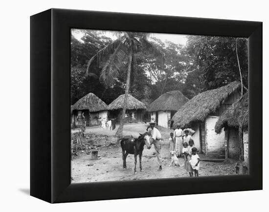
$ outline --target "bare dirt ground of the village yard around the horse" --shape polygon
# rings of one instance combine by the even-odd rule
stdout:
[[[124,126],[123,135],[138,137],[139,133],[144,133],[146,128],[146,124],[128,124]],[[162,138],[164,138],[161,148],[162,170],[157,171],[157,158],[152,147],[151,149],[145,148],[143,151],[142,172],[139,170],[139,158],[137,157],[137,174],[134,174],[134,155],[128,155],[127,169],[123,170],[122,168],[121,147],[115,146],[116,138],[114,134],[116,129],[110,131],[99,127],[87,127],[86,136],[83,139],[86,147],[78,148],[76,153],[72,155],[72,183],[189,177],[188,172],[183,167],[169,167],[168,138],[173,130],[158,127]],[[72,130],[71,140],[77,140],[77,132],[77,129]],[[98,150],[97,160],[91,159],[92,150]],[[182,158],[179,158],[179,161],[180,164],[183,164]],[[235,174],[234,163],[206,161],[200,163],[200,176]]]

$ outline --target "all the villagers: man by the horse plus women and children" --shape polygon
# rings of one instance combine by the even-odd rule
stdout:
[[[151,134],[152,144],[156,150],[157,163],[159,165],[159,171],[162,170],[161,167],[161,133],[155,127],[155,122],[149,123],[146,131]],[[200,168],[200,157],[198,155],[198,150],[194,146],[194,141],[192,136],[195,133],[194,130],[186,128],[182,130],[178,125],[174,132],[170,133],[169,138],[169,151],[175,152],[177,157],[183,156],[184,158],[184,169],[189,172],[190,177],[193,175],[199,176],[198,170]]]

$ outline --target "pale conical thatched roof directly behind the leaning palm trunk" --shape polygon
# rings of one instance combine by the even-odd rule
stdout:
[[[110,110],[116,110],[116,109],[122,109],[123,103],[124,103],[124,97],[125,94],[120,95],[118,98],[116,98],[110,105]],[[128,94],[127,97],[127,108],[128,110],[131,109],[146,109],[146,106],[144,103],[140,102],[138,99],[135,99],[132,95]]]

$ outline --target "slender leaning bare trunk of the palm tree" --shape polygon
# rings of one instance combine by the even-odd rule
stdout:
[[[122,137],[124,118],[125,118],[126,107],[127,107],[127,97],[129,94],[132,59],[133,59],[133,46],[131,45],[130,46],[130,53],[129,53],[128,69],[127,69],[127,79],[126,79],[126,85],[125,85],[124,104],[123,104],[123,108],[122,108],[122,117],[121,117],[121,120],[119,123],[119,128],[115,134],[115,136],[118,138]]]

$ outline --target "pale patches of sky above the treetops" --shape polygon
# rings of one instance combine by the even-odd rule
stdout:
[[[110,37],[112,40],[116,39],[116,36],[113,35],[113,31],[103,31],[104,35],[107,37]],[[72,30],[71,31],[72,35],[77,39],[80,40],[81,37],[83,36],[83,33],[79,30]],[[164,41],[171,41],[177,44],[182,44],[185,45],[187,42],[187,36],[186,35],[178,35],[178,34],[165,34],[165,33],[151,33],[150,37],[155,37],[157,39],[160,39],[162,42]],[[150,40],[150,39],[149,39]]]

